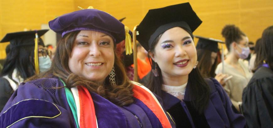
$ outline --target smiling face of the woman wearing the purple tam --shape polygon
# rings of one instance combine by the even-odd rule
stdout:
[[[114,66],[114,41],[102,32],[82,30],[73,42],[68,61],[72,73],[104,82]]]

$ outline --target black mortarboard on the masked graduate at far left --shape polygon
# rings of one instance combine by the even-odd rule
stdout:
[[[10,48],[35,45],[35,33],[39,36],[39,45],[45,46],[40,36],[44,35],[49,29],[37,30],[37,31],[22,31],[7,33],[0,42],[10,42]]]

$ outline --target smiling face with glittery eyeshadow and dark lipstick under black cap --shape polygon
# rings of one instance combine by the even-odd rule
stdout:
[[[197,61],[193,39],[181,27],[165,31],[150,56],[160,67],[163,78],[188,76]]]

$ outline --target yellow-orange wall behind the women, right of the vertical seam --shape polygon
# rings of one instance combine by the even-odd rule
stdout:
[[[221,35],[226,24],[235,24],[256,42],[262,31],[273,25],[273,0],[75,0],[75,6],[93,6],[110,13],[131,30],[139,24],[149,9],[190,2],[203,23],[195,35],[224,40]]]

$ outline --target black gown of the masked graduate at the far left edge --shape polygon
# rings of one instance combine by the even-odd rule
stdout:
[[[8,80],[0,77],[0,111],[2,111],[12,93],[13,89],[11,88]]]

